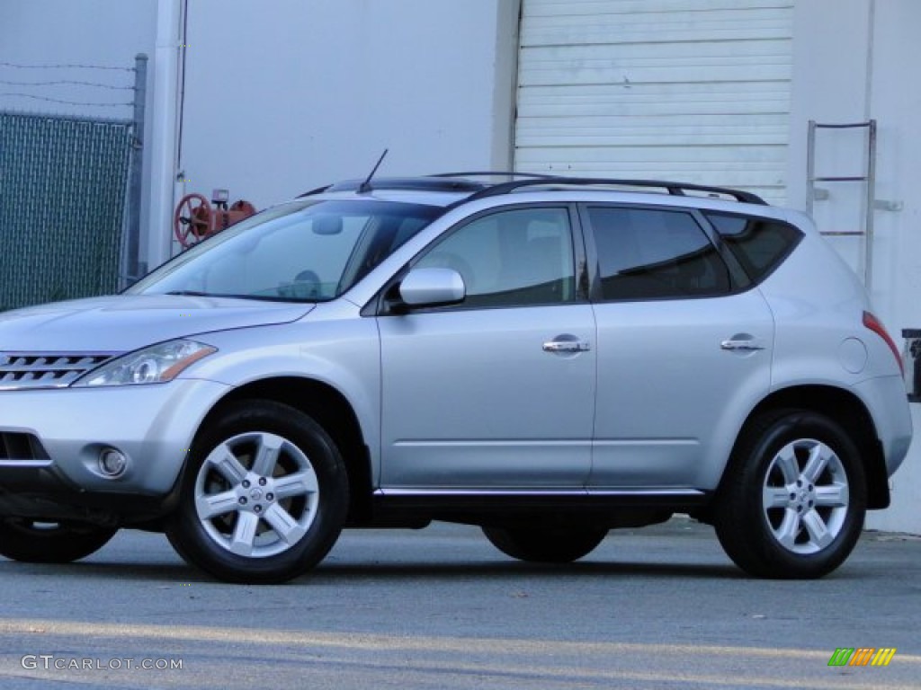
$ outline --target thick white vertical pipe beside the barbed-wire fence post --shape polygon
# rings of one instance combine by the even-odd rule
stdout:
[[[169,259],[177,175],[179,64],[182,0],[158,0],[157,44],[154,50],[154,97],[151,108],[150,227],[147,265]]]

